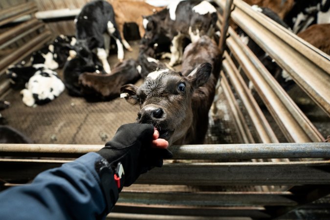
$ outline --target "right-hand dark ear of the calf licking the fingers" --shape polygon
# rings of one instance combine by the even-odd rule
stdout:
[[[212,66],[209,63],[198,65],[189,75],[188,79],[191,80],[193,88],[203,86],[211,75]]]

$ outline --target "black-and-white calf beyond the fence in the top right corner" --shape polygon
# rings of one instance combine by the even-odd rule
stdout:
[[[284,21],[295,34],[312,24],[330,23],[330,0],[295,0]]]

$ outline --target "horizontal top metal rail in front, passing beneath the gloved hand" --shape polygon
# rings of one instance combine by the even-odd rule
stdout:
[[[0,156],[76,158],[104,145],[0,144]],[[330,143],[173,145],[173,159],[330,158]]]

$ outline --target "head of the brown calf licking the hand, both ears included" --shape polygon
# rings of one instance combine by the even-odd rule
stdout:
[[[132,84],[121,88],[131,104],[139,104],[137,123],[152,124],[160,138],[175,143],[185,137],[193,124],[192,96],[211,74],[211,65],[203,63],[189,75],[161,69],[150,73],[141,87]]]

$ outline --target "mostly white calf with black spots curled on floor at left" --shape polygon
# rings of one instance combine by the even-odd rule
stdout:
[[[64,84],[57,73],[50,69],[38,70],[22,89],[23,103],[27,106],[42,105],[59,96],[64,91]]]

